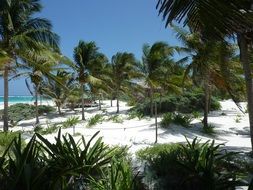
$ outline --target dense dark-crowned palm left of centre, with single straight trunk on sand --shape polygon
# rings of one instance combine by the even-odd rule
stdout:
[[[90,73],[90,67],[93,64],[98,64],[100,61],[105,61],[101,53],[98,52],[98,47],[95,42],[79,41],[77,47],[74,49],[74,70],[78,73],[78,80],[80,84],[80,92],[82,94],[82,120],[84,116],[84,85],[88,83],[99,83],[100,80],[93,77]]]

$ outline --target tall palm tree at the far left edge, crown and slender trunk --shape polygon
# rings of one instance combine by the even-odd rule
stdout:
[[[59,38],[51,31],[48,20],[35,18],[42,6],[39,0],[2,0],[0,4],[0,52],[4,78],[4,131],[8,131],[8,77],[16,60],[29,53],[58,49]],[[4,60],[4,61],[3,61]]]

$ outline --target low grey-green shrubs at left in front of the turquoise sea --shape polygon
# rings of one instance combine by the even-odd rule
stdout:
[[[55,108],[51,106],[38,106],[38,112],[40,115],[44,113],[50,113],[55,111]],[[1,114],[3,111],[1,110]],[[36,116],[36,109],[34,105],[30,104],[14,104],[11,105],[8,109],[9,120],[11,121],[21,121],[27,119],[33,119]]]

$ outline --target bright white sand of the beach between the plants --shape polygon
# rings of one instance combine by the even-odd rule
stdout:
[[[113,107],[110,107],[110,101],[103,101],[102,109],[108,112],[108,115],[113,115],[116,112],[116,102],[113,102]],[[52,103],[48,103],[51,104]],[[215,127],[217,135],[208,136],[202,133],[200,126],[201,119],[195,119],[191,128],[181,126],[171,126],[168,129],[158,128],[158,143],[175,143],[184,142],[185,136],[193,139],[198,136],[203,140],[215,139],[217,143],[226,143],[227,148],[237,151],[249,151],[250,136],[248,114],[243,114],[239,111],[236,105],[231,100],[221,102],[222,110],[214,111],[209,114],[209,123]],[[245,103],[241,104],[245,109]],[[0,108],[1,109],[1,108]],[[104,121],[92,128],[86,128],[87,121],[82,121],[75,127],[76,133],[81,133],[87,139],[95,132],[100,131],[99,135],[103,136],[104,142],[110,145],[127,145],[130,146],[130,151],[136,150],[145,146],[152,145],[155,141],[155,119],[131,119],[128,120],[127,110],[130,107],[124,102],[120,102],[120,117],[124,119],[123,123],[113,123],[112,121]],[[61,123],[68,117],[79,116],[81,118],[81,109],[76,109],[75,112],[63,110],[65,114],[59,116],[57,113],[41,116],[40,122],[46,127],[46,123]],[[95,114],[105,114],[99,111],[97,107],[86,108],[86,119],[91,118]],[[222,114],[223,113],[223,114]],[[236,122],[236,119],[239,122]],[[161,118],[158,118],[158,122]],[[35,119],[19,122],[18,126],[10,130],[32,130]],[[2,128],[2,122],[0,127]],[[73,133],[72,128],[62,129],[62,133]],[[57,133],[46,135],[47,139],[54,140]],[[75,138],[80,138],[77,136]]]

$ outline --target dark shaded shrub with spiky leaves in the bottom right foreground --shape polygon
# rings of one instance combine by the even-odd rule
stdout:
[[[200,143],[195,138],[186,144],[161,144],[137,152],[147,162],[146,171],[156,184],[154,189],[223,190],[239,184],[237,167],[215,142]]]

